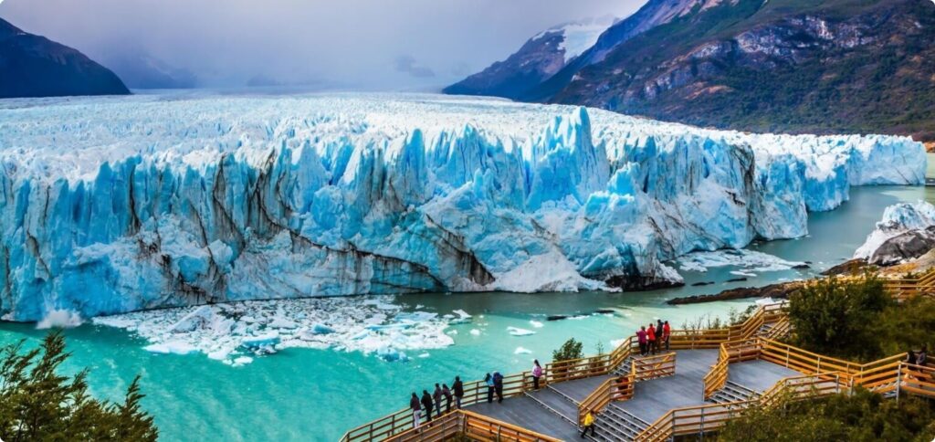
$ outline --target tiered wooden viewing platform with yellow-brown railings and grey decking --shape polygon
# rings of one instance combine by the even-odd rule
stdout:
[[[927,292],[935,272],[887,287],[895,297]],[[670,350],[640,356],[631,337],[611,353],[547,364],[534,390],[531,373],[507,376],[502,403],[482,382],[465,384],[462,410],[412,428],[403,409],[345,434],[341,442],[469,440],[558,441],[581,437],[587,410],[598,441],[663,441],[717,431],[753,406],[849,392],[935,398],[935,367],[907,364],[905,353],[869,364],[830,358],[780,342],[789,334],[786,303],[759,307],[741,324],[673,330]]]

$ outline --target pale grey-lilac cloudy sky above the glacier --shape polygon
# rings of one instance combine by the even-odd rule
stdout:
[[[209,87],[271,78],[433,91],[530,36],[645,0],[0,0],[0,18],[92,59],[145,53]]]

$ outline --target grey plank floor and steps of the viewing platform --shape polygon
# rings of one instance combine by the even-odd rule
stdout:
[[[633,398],[615,402],[642,421],[653,422],[672,408],[711,404],[703,399],[702,378],[717,362],[716,349],[684,349],[676,351],[675,375],[638,382]],[[765,361],[749,361],[730,365],[728,380],[755,392],[764,392],[782,378],[799,373]],[[591,392],[612,378],[611,375],[562,382],[539,392],[505,398],[503,403],[477,404],[468,410],[543,435],[572,440],[578,434],[578,404]]]

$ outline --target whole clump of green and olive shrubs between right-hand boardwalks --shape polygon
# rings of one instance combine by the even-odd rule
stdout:
[[[880,279],[819,280],[789,297],[793,345],[842,359],[870,362],[935,344],[935,300],[897,303]]]

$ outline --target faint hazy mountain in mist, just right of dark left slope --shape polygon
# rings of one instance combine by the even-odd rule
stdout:
[[[145,51],[127,50],[99,58],[133,89],[192,89],[198,78],[189,71],[166,64]]]

